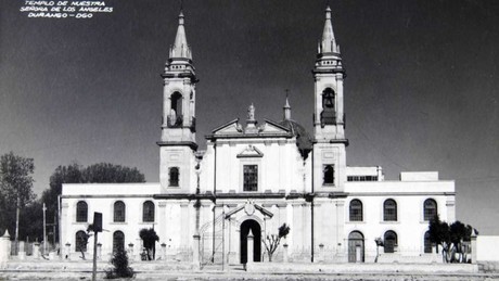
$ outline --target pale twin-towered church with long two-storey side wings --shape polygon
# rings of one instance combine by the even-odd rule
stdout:
[[[197,77],[183,21],[180,13],[162,75],[159,182],[64,184],[60,238],[68,257],[77,255],[78,235],[99,212],[102,257],[119,246],[137,256],[139,231],[154,228],[156,258],[244,264],[251,251],[254,261],[266,261],[265,238],[286,223],[291,231],[274,260],[284,251],[293,261],[372,263],[378,251],[380,261],[435,258],[428,220],[436,214],[456,219],[455,182],[436,171],[384,180],[381,167],[346,165],[346,74],[329,8],[312,71],[312,133],[292,119],[287,99],[279,122],[258,124],[252,104],[245,120],[206,136],[206,151],[195,139]]]

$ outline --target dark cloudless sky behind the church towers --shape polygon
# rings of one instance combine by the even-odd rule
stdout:
[[[179,1],[107,0],[92,18],[33,18],[0,0],[0,154],[33,157],[35,191],[59,165],[108,162],[158,181],[163,84]],[[332,9],[345,80],[347,165],[438,170],[457,218],[499,234],[499,1],[184,0],[200,82],[196,139],[254,103],[311,132],[314,67]]]

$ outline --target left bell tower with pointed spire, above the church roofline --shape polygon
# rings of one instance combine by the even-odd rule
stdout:
[[[163,78],[163,122],[159,145],[162,192],[191,192],[195,166],[195,85],[199,81],[188,44],[184,16],[169,49]]]

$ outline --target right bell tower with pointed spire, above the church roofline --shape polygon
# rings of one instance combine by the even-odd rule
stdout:
[[[345,114],[343,81],[346,77],[340,44],[333,33],[331,9],[319,41],[316,65],[314,112],[314,186],[320,191],[343,191],[346,181]]]

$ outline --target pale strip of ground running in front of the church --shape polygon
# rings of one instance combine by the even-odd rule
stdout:
[[[274,264],[274,266],[279,266]],[[304,265],[299,265],[304,266]],[[396,265],[394,265],[396,266]],[[424,265],[422,265],[424,267]],[[104,279],[104,268],[108,268],[106,263],[99,264],[98,280]],[[202,270],[188,269],[178,265],[168,266],[163,263],[133,263],[131,267],[136,269],[135,280],[335,280],[335,281],[499,281],[497,273],[476,273],[476,272],[368,272],[359,265],[358,272],[306,272],[306,271],[285,271],[276,270],[276,267],[261,271],[245,271],[240,265],[228,266],[221,270],[221,266],[206,266]],[[342,265],[337,265],[338,268]],[[298,265],[296,269],[299,269]],[[364,271],[362,271],[364,270]],[[38,263],[11,263],[10,266],[0,270],[0,281],[4,280],[68,280],[82,281],[91,280],[91,264],[84,263],[62,263],[62,261],[38,261]]]

